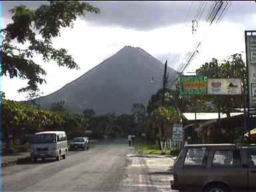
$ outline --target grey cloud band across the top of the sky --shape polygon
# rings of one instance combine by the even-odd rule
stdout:
[[[128,29],[147,31],[167,27],[194,19],[200,1],[86,1],[101,9],[99,15],[87,13],[81,17],[92,25],[117,26]],[[205,1],[206,2],[206,1]],[[36,9],[47,1],[2,1],[3,17],[11,17],[8,10],[15,5],[23,4]],[[212,1],[207,1],[204,19]],[[190,11],[189,11],[190,10]],[[231,7],[223,21],[251,25],[250,16],[256,13],[255,1],[232,1]],[[186,15],[188,15],[186,17]]]

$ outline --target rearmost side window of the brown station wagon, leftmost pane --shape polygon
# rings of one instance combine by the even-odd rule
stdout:
[[[193,148],[188,149],[185,157],[185,166],[206,166],[207,163],[208,150],[204,148]]]

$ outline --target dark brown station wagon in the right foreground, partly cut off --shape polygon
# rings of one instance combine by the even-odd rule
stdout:
[[[173,167],[171,189],[256,191],[256,145],[185,145]]]

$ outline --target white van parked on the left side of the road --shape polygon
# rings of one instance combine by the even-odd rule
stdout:
[[[43,131],[35,133],[32,139],[31,159],[56,158],[57,161],[67,157],[67,135],[65,131]]]

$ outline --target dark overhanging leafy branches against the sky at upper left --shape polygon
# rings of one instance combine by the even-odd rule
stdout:
[[[38,83],[45,82],[42,76],[46,72],[33,61],[35,55],[41,55],[45,62],[55,61],[59,66],[79,69],[66,49],[53,47],[52,39],[61,35],[62,27],[73,27],[77,17],[85,15],[86,11],[99,13],[98,8],[80,1],[49,1],[48,5],[41,5],[36,10],[19,5],[10,11],[12,23],[0,30],[3,39],[1,75],[27,79],[27,87],[19,91],[35,91]]]

